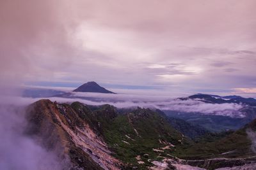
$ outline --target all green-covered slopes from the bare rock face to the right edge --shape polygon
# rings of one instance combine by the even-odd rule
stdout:
[[[113,151],[113,156],[125,162],[127,167],[147,169],[148,166],[152,166],[153,160],[163,160],[172,156],[197,160],[255,155],[252,153],[250,148],[252,143],[246,134],[247,127],[255,131],[255,122],[239,131],[211,133],[202,127],[194,128],[188,123],[182,124],[179,119],[167,118],[160,111],[143,108],[116,110],[108,104],[92,107],[72,103],[71,106],[79,117],[88,122],[106,141]],[[219,117],[214,118],[219,119]],[[172,125],[176,125],[176,129],[185,127],[192,136],[199,138],[192,141],[182,136]],[[164,148],[166,146],[170,148]],[[139,161],[144,163],[139,164]]]

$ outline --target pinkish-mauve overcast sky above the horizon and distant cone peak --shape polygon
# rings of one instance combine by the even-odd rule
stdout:
[[[0,2],[1,86],[256,97],[254,0]]]

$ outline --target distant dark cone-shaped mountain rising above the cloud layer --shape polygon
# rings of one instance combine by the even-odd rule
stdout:
[[[115,94],[114,92],[111,92],[104,87],[101,87],[94,81],[89,81],[87,83],[84,83],[77,89],[73,90],[73,92],[95,92],[95,93],[107,93],[107,94]]]

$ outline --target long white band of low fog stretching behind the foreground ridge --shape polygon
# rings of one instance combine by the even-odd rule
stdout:
[[[40,99],[47,98],[51,101],[57,101],[60,103],[72,103],[74,101],[79,101],[81,103],[90,105],[111,104],[117,108],[139,106],[141,108],[196,112],[207,115],[244,117],[244,114],[239,111],[244,106],[236,103],[212,104],[193,99],[180,100],[178,97],[161,95],[157,96],[156,94],[101,94],[90,92],[72,92],[70,89],[65,89],[64,93],[65,94],[63,95],[57,95],[54,97],[20,97],[19,103],[22,102],[23,104],[29,104]]]

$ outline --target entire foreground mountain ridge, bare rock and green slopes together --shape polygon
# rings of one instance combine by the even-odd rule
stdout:
[[[109,104],[61,104],[42,99],[31,104],[27,113],[26,134],[67,159],[69,168],[76,170],[216,169],[255,162],[246,129],[255,133],[256,120],[217,141],[195,143],[176,131],[163,112],[148,108],[120,113]]]

